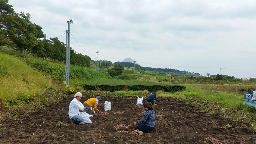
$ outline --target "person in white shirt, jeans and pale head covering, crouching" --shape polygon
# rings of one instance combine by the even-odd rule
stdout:
[[[81,92],[76,92],[74,95],[74,99],[69,104],[68,109],[68,116],[71,119],[71,124],[78,124],[80,121],[83,120],[83,117],[81,116],[82,112],[79,110],[88,109],[88,107],[83,106],[83,104],[80,102],[80,99],[82,98],[83,94]]]

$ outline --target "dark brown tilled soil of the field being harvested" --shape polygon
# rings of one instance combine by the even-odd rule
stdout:
[[[84,95],[80,102],[89,99]],[[0,143],[27,144],[252,144],[255,129],[241,122],[233,122],[217,114],[200,109],[175,98],[160,97],[155,106],[156,127],[150,133],[138,135],[133,122],[141,120],[143,105],[136,105],[136,96],[101,96],[101,114],[91,117],[91,124],[57,127],[58,121],[70,123],[68,117],[70,95],[63,101],[45,106],[17,119],[0,124]],[[111,101],[111,110],[104,111],[104,102]],[[143,104],[146,102],[143,99]],[[229,127],[231,126],[231,127]]]

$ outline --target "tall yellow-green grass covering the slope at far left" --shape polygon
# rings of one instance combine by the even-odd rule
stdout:
[[[0,59],[0,98],[3,101],[17,98],[28,90],[42,93],[46,87],[52,85],[51,80],[15,56],[0,53]]]

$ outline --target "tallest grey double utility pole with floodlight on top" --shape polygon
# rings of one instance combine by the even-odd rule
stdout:
[[[70,23],[73,23],[73,20],[67,21],[67,30],[66,30],[66,36],[67,36],[67,44],[66,44],[66,87],[69,86],[69,66],[70,66]]]

